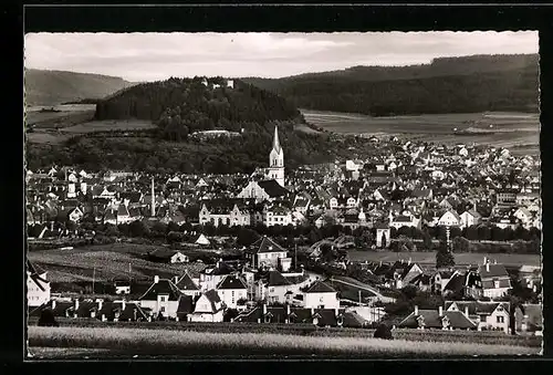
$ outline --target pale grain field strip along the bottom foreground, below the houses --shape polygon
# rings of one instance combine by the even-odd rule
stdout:
[[[420,356],[461,355],[531,355],[540,347],[501,344],[474,344],[422,341],[416,345],[406,340],[372,337],[302,336],[271,333],[211,333],[181,330],[147,330],[127,327],[29,327],[29,351],[33,347],[109,350],[109,356],[129,358],[144,356]],[[186,353],[186,354],[184,354]],[[103,356],[105,352],[95,355]],[[91,353],[94,355],[94,352]]]

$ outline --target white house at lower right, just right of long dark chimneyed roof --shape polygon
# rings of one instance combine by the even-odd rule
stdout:
[[[446,311],[465,312],[478,331],[509,333],[509,309],[508,302],[446,301]]]

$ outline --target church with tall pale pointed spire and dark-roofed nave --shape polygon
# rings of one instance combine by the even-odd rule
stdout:
[[[269,167],[264,169],[263,175],[264,180],[250,180],[238,197],[263,201],[282,198],[289,194],[284,188],[284,150],[279,142],[279,128],[276,126],[274,127],[273,147],[269,154]]]

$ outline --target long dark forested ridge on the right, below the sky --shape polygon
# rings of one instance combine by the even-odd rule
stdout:
[[[435,59],[413,66],[354,66],[269,80],[243,79],[298,107],[374,116],[539,110],[539,55]]]

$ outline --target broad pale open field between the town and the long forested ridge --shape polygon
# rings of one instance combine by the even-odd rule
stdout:
[[[441,144],[484,144],[510,148],[512,153],[539,153],[539,114],[474,113],[371,117],[362,114],[302,110],[311,124],[341,134],[395,135]],[[493,127],[490,128],[490,125]],[[453,128],[493,129],[493,134],[453,135]]]

